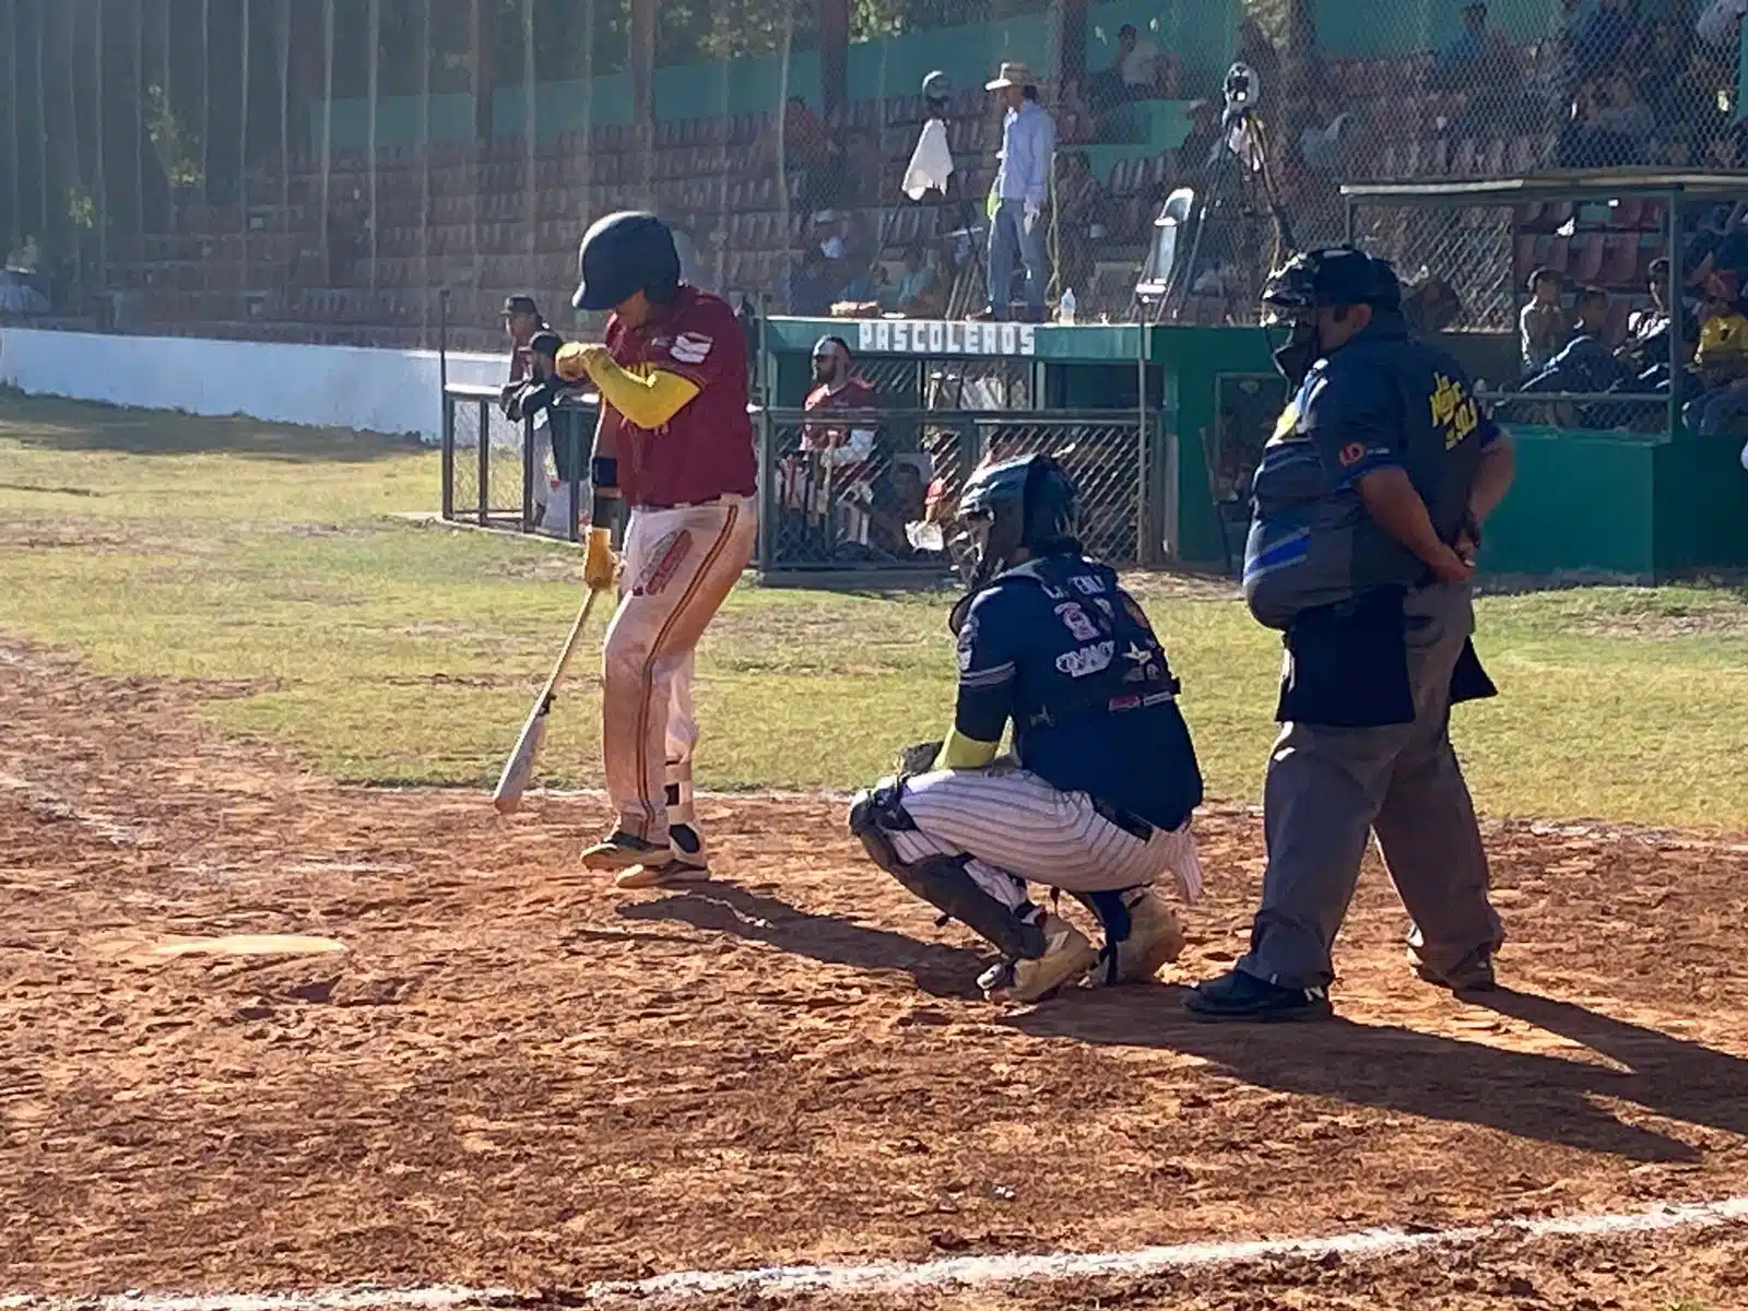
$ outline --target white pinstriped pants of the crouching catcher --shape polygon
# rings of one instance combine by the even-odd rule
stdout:
[[[942,769],[904,785],[916,829],[888,832],[900,860],[970,855],[965,872],[1009,909],[1026,883],[1063,891],[1117,891],[1176,874],[1185,900],[1201,895],[1190,822],[1154,829],[1145,843],[1096,809],[1086,792],[1058,792],[1017,766]]]

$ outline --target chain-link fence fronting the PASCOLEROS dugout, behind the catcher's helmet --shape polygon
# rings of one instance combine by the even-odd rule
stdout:
[[[1082,496],[1082,544],[1141,559],[1152,505],[1134,414],[1014,411],[795,411],[767,414],[760,566],[946,568],[942,531],[986,460],[1058,456]]]

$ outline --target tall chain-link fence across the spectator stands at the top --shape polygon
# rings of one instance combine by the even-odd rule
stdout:
[[[1042,316],[1073,292],[1079,322],[1120,320],[1166,198],[1245,184],[1173,313],[1246,320],[1273,206],[1335,239],[1342,182],[1734,171],[1734,10],[0,0],[0,313],[432,346],[449,288],[453,344],[493,348],[505,294],[566,318],[584,225],[652,206],[694,281],[780,311]],[[1397,245],[1468,304],[1514,253]]]

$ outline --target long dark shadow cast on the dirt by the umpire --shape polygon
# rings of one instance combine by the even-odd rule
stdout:
[[[1201,1024],[1185,1016],[1182,998],[1182,988],[1166,986],[1089,993],[1003,1023],[1037,1038],[1190,1052],[1278,1092],[1477,1124],[1633,1161],[1699,1162],[1703,1154],[1622,1122],[1598,1098],[1748,1134],[1748,1061],[1533,993],[1502,989],[1477,1005],[1578,1042],[1626,1070],[1346,1019]]]

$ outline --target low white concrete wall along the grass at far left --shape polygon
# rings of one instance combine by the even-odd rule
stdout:
[[[449,381],[498,386],[502,355],[449,353]],[[0,385],[189,414],[246,414],[437,440],[437,351],[124,337],[0,327]]]

